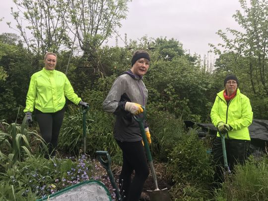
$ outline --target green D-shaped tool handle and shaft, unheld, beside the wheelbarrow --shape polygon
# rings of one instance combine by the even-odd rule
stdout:
[[[115,189],[115,194],[116,194],[117,200],[122,201],[119,189],[116,185],[113,173],[110,169],[111,157],[110,157],[109,153],[107,151],[96,151],[96,154],[97,154],[97,158],[100,161],[102,167],[104,167],[108,173],[111,184],[112,184],[113,188]],[[103,157],[106,157],[107,161],[103,160]]]

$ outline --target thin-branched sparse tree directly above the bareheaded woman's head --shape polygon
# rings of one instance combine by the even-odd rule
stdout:
[[[66,0],[13,0],[11,14],[27,47],[37,54],[58,52],[70,46],[67,35]],[[10,23],[9,23],[10,25]]]

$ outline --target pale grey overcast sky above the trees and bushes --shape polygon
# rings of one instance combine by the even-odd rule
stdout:
[[[0,0],[0,33],[12,32],[6,21],[12,22],[10,7],[12,0]],[[239,29],[232,15],[240,8],[238,0],[133,0],[129,2],[127,19],[122,20],[119,33],[124,39],[136,40],[144,35],[148,37],[175,38],[183,48],[203,57],[209,50],[208,43],[221,42],[215,32],[227,27]],[[12,23],[13,26],[15,23]],[[108,43],[115,45],[115,40]],[[124,42],[119,40],[119,45]]]

